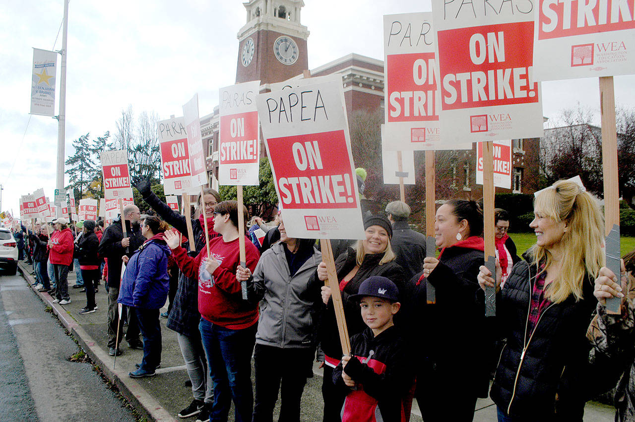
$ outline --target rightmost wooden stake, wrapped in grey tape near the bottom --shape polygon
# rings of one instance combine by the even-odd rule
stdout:
[[[617,128],[615,124],[615,91],[613,77],[599,78],[602,114],[602,166],[604,173],[604,221],[606,235],[606,267],[620,278],[620,196],[617,178]],[[620,313],[620,298],[606,300],[606,312]]]

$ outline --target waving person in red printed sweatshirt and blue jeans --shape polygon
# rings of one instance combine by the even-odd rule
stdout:
[[[243,214],[248,216],[243,207]],[[214,231],[219,237],[210,239],[208,251],[196,258],[187,256],[180,234],[166,232],[165,240],[173,249],[178,267],[187,277],[198,277],[198,306],[201,312],[201,338],[214,383],[214,402],[207,405],[199,419],[227,420],[231,399],[236,408],[236,421],[251,421],[251,352],[255,343],[258,308],[243,300],[241,283],[236,280],[240,264],[236,201],[219,202],[214,211]],[[256,268],[260,253],[249,239],[245,241],[246,266]],[[230,399],[231,398],[231,399]]]

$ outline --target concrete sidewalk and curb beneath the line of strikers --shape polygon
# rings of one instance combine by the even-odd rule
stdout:
[[[35,278],[31,275],[32,267],[20,261],[18,270],[23,276],[33,284]],[[90,355],[95,365],[100,367],[107,378],[114,383],[121,393],[135,406],[137,411],[149,421],[185,421],[194,422],[196,416],[192,418],[178,418],[178,412],[192,401],[192,389],[185,386],[185,381],[189,380],[185,364],[178,348],[177,336],[174,331],[166,328],[165,318],[161,318],[161,334],[163,350],[161,353],[161,368],[157,369],[157,375],[150,378],[133,379],[128,376],[130,371],[135,369],[135,364],[140,363],[144,355],[143,350],[135,350],[128,347],[125,340],[121,342],[123,355],[117,356],[116,367],[113,367],[114,357],[108,354],[107,347],[107,327],[106,319],[108,312],[108,294],[104,285],[99,286],[99,292],[95,295],[98,310],[94,313],[79,315],[79,310],[86,305],[86,294],[79,293],[80,289],[72,289],[75,284],[76,275],[69,272],[69,293],[71,303],[69,305],[59,305],[53,303],[53,299],[47,293],[36,294],[47,306],[53,308],[53,312],[58,316],[62,324],[79,341],[79,345]],[[162,308],[165,312],[167,307]],[[126,327],[124,327],[124,332]],[[253,364],[252,364],[253,368]],[[322,419],[322,370],[314,366],[313,378],[307,381],[302,395],[301,419],[303,421],[317,421]],[[253,380],[253,373],[252,373]],[[233,407],[233,406],[232,406]],[[474,421],[495,422],[497,421],[496,406],[490,399],[479,399],[476,404]],[[279,411],[279,403],[276,406],[276,414]],[[413,403],[413,415],[411,421],[422,421],[416,401]],[[613,421],[615,409],[597,402],[589,402],[585,407],[584,420],[594,422]],[[230,411],[229,420],[234,420],[234,411]]]

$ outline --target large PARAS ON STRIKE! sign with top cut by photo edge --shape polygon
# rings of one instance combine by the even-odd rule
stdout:
[[[542,137],[531,8],[432,1],[444,143]]]

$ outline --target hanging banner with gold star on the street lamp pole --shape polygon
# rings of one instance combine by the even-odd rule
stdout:
[[[33,49],[30,114],[55,115],[56,65],[56,51]]]

